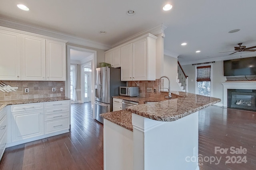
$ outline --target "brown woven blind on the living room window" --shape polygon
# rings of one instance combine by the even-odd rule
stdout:
[[[196,81],[209,82],[211,81],[211,66],[198,66],[196,67]]]

